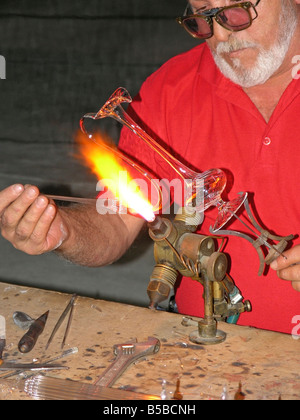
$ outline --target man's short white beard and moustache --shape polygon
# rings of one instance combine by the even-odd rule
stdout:
[[[244,88],[263,84],[282,65],[296,26],[297,18],[294,9],[290,6],[283,6],[277,40],[269,50],[262,48],[260,44],[255,42],[238,40],[232,35],[232,39],[227,42],[220,42],[216,51],[212,52],[215,63],[225,77]],[[259,49],[257,61],[252,68],[244,68],[238,58],[233,59],[231,65],[222,57],[222,53],[247,47]]]

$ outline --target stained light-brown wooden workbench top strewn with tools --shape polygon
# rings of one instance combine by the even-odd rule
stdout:
[[[0,314],[6,318],[5,361],[39,362],[61,354],[65,328],[61,327],[47,350],[49,336],[71,296],[14,284],[0,283]],[[34,349],[18,351],[24,334],[13,322],[15,311],[38,318],[49,310],[44,332]],[[160,350],[131,365],[113,389],[174,398],[177,388],[183,400],[235,399],[242,386],[245,400],[300,399],[300,339],[297,337],[220,323],[224,342],[203,346],[189,341],[195,326],[182,325],[183,316],[164,311],[78,296],[65,349],[78,353],[62,359],[68,370],[43,375],[93,384],[114,360],[113,346],[148,337],[160,341]],[[3,376],[0,372],[0,376]],[[30,375],[40,373],[27,372]],[[0,400],[33,399],[24,392],[24,374],[0,379]],[[28,380],[28,379],[27,379]],[[121,399],[121,398],[120,398]]]

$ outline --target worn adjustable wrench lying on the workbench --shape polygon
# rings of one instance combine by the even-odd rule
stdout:
[[[160,341],[155,337],[148,337],[146,342],[137,343],[135,341],[126,344],[116,344],[113,349],[114,354],[117,356],[115,361],[97,379],[94,385],[112,386],[129,365],[140,358],[157,353],[160,349]]]

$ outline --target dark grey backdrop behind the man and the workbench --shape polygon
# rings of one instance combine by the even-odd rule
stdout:
[[[0,189],[21,182],[44,192],[94,196],[96,179],[72,156],[78,122],[119,86],[135,95],[167,59],[196,45],[175,21],[185,5],[1,0]],[[117,141],[118,123],[105,124]],[[147,305],[152,254],[144,232],[120,261],[91,269],[54,254],[25,255],[1,237],[0,281]]]

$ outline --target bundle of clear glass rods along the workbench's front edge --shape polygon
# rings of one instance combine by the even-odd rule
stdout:
[[[35,376],[27,379],[24,384],[24,391],[35,400],[160,400],[156,395],[106,388],[47,376]]]

